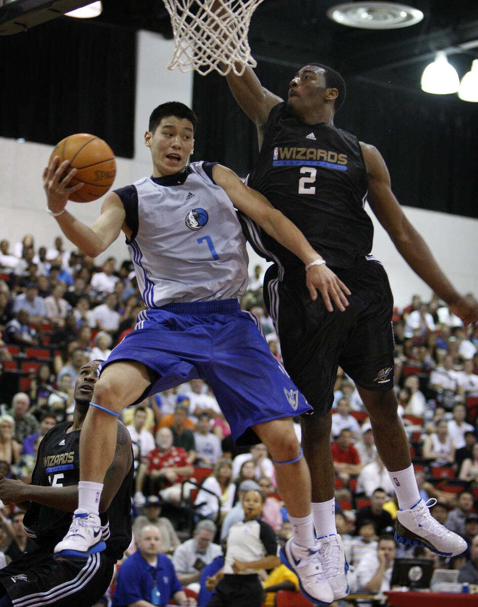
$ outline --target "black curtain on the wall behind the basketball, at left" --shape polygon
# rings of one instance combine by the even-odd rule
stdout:
[[[0,136],[52,146],[86,132],[133,157],[134,30],[58,18],[0,36]]]

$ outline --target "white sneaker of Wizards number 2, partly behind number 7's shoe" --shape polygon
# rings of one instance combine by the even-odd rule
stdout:
[[[347,580],[349,564],[345,557],[342,538],[338,534],[324,535],[317,538],[315,548],[318,549],[324,577],[334,591],[334,600],[345,599],[349,594]]]

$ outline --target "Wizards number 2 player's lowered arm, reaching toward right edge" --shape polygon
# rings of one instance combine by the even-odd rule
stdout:
[[[463,323],[478,320],[478,303],[463,297],[436,262],[425,240],[406,219],[392,192],[390,175],[380,152],[374,146],[360,143],[368,176],[368,202],[377,219],[412,270],[425,280],[459,316]]]

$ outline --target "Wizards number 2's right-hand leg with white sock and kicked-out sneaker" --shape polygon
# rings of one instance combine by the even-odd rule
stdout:
[[[466,541],[440,525],[420,498],[394,390],[378,392],[359,385],[357,389],[370,416],[377,451],[397,494],[400,510],[396,540],[406,545],[426,546],[443,556],[461,554],[466,550]]]

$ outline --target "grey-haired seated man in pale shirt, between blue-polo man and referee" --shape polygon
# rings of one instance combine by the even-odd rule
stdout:
[[[221,546],[213,543],[217,527],[205,518],[196,525],[193,537],[175,549],[173,565],[183,586],[199,582],[204,566],[223,554]]]

